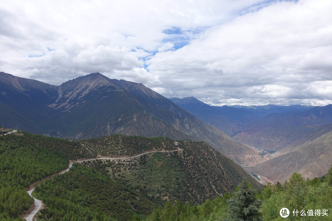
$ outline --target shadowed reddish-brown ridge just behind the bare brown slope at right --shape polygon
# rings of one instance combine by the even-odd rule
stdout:
[[[332,123],[332,105],[313,107],[301,113],[274,113],[233,136],[241,143],[270,150],[281,150],[299,138]]]

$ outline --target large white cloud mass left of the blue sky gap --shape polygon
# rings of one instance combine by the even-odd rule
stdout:
[[[123,59],[120,66],[124,70],[130,68],[134,73],[141,64],[132,62],[132,58],[125,64],[132,51],[136,52],[136,60],[140,60],[150,55],[146,52],[171,48],[172,43],[163,42],[167,37],[163,30],[179,27],[185,33],[197,27],[210,27],[259,1],[240,0],[238,5],[198,0],[7,1],[1,4],[0,13],[0,60],[4,61],[0,69],[50,83],[56,78],[58,81],[54,83],[59,84],[75,75],[88,74],[90,70],[117,70],[119,65],[115,65],[114,70],[110,70],[110,66],[104,67],[105,61],[112,57],[111,63]],[[220,14],[228,16],[221,18]],[[100,47],[103,46],[110,49],[109,58],[102,58],[105,50]],[[49,52],[47,48],[55,52]],[[122,51],[116,58],[111,48],[126,48],[127,51]],[[95,66],[87,68],[84,63],[87,60],[79,58],[98,50],[100,54],[94,54],[94,62],[93,58],[88,62]],[[145,53],[137,53],[140,50]],[[41,55],[41,59],[35,59]],[[101,59],[99,64],[97,58]]]

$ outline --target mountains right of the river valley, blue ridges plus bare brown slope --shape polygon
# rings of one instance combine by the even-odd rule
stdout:
[[[274,152],[264,162],[245,165],[272,182],[283,183],[293,172],[321,177],[332,164],[332,105],[217,107],[194,97],[171,100],[234,140]]]

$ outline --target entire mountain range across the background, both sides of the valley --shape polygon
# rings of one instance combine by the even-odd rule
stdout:
[[[141,83],[100,73],[55,86],[0,72],[0,88],[6,128],[68,139],[124,134],[203,140],[274,182],[293,172],[319,177],[332,163],[332,105],[217,107],[194,97],[167,99]],[[264,158],[255,148],[275,153]]]

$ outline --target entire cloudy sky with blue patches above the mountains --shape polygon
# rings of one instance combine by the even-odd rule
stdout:
[[[332,104],[332,1],[0,0],[0,71],[210,105]]]

